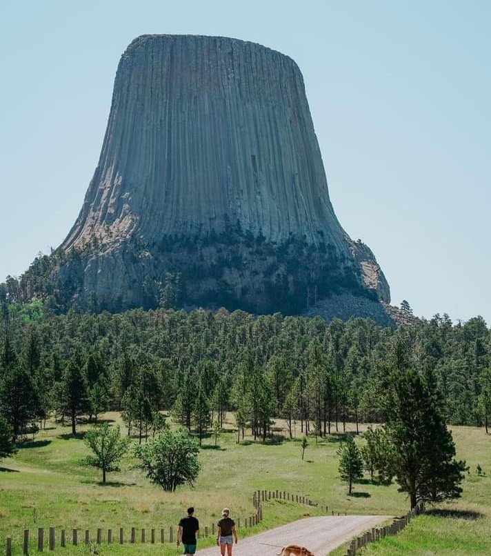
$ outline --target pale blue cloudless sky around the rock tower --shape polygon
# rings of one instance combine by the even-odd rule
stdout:
[[[0,279],[77,217],[128,43],[219,34],[299,64],[334,210],[393,303],[491,324],[490,28],[486,0],[3,2]]]

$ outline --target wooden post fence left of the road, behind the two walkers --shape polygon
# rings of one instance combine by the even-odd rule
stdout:
[[[304,495],[287,493],[286,490],[255,490],[254,495],[252,495],[252,505],[256,508],[256,513],[249,515],[245,518],[238,517],[237,528],[250,528],[258,524],[263,519],[263,506],[261,502],[272,499],[283,499],[290,500],[291,502],[297,502],[298,504],[307,504],[308,506],[317,506],[313,504],[312,501],[305,497]],[[333,513],[334,515],[334,513]],[[210,526],[206,525],[201,529],[203,532],[200,537],[208,537],[210,535],[215,535],[215,524],[212,523]],[[58,531],[54,527],[50,527],[46,530],[48,533],[48,539],[45,539],[45,528],[39,527],[37,529],[37,542],[36,542],[36,532],[34,531],[32,537],[29,529],[25,529],[23,532],[23,542],[22,542],[22,553],[23,555],[29,554],[30,542],[37,546],[38,552],[43,552],[45,548],[48,550],[54,550],[55,546],[67,546],[67,544],[72,544],[77,546],[78,544],[102,544],[102,543],[172,543],[176,539],[177,528],[170,526],[168,528],[139,528],[132,527],[130,529],[125,529],[123,527],[116,529],[102,529],[97,528],[95,535],[94,531],[90,529],[59,529]],[[12,537],[7,537],[6,539],[6,556],[12,556]],[[32,547],[31,547],[32,548]]]

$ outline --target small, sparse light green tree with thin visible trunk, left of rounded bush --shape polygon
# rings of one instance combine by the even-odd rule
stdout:
[[[119,426],[111,428],[107,423],[90,428],[83,441],[95,454],[88,456],[88,464],[102,470],[102,482],[106,483],[106,473],[119,471],[119,460],[128,450],[130,440],[121,438]]]

